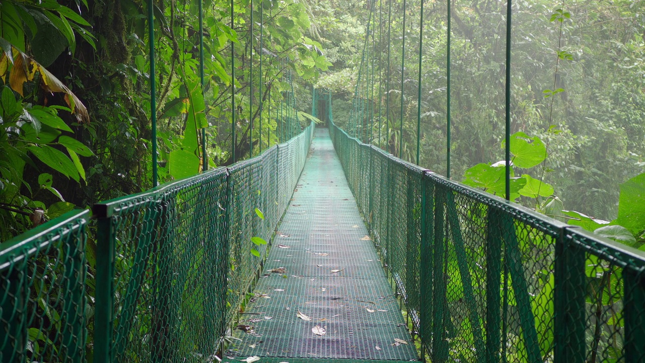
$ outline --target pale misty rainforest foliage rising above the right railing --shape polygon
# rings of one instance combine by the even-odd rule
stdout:
[[[402,0],[328,3],[335,8],[317,14],[339,19],[321,26],[334,67],[317,85],[338,95],[335,121],[348,126],[357,90],[370,110],[357,126],[363,141],[415,162],[421,2],[406,2],[405,32]],[[503,195],[506,3],[451,5],[452,178]],[[625,218],[645,191],[645,3],[530,0],[513,2],[512,11],[511,199],[592,231],[602,226],[585,221],[622,220],[639,247],[645,223],[628,227],[635,219]],[[447,14],[446,2],[424,2],[419,164],[444,175]],[[367,86],[355,88],[359,70]],[[372,134],[363,132],[370,124]]]

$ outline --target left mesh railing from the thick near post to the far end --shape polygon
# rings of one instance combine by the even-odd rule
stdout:
[[[94,206],[107,257],[97,264],[95,359],[214,359],[266,256],[251,238],[272,237],[312,132],[313,124],[250,160]]]

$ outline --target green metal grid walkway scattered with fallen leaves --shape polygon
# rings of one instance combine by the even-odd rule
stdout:
[[[241,341],[226,353],[230,361],[254,355],[260,362],[417,360],[366,235],[328,129],[317,129],[264,275],[241,315],[235,333]],[[299,318],[299,311],[312,320]],[[316,326],[325,335],[315,335]]]

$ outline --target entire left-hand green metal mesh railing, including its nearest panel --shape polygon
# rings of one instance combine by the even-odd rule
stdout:
[[[96,204],[95,234],[77,211],[1,244],[0,362],[214,361],[266,256],[251,237],[272,238],[314,127],[228,168]]]

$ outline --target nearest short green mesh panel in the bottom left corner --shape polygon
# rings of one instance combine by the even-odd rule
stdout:
[[[88,211],[0,244],[0,362],[82,362]]]

